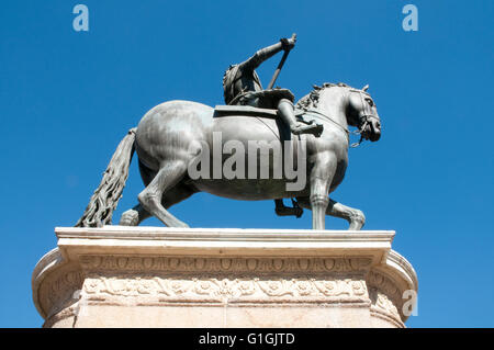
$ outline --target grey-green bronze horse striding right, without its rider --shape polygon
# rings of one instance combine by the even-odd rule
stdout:
[[[295,197],[300,206],[312,210],[313,229],[325,228],[325,215],[345,218],[350,223],[349,229],[360,229],[364,224],[363,213],[330,200],[329,193],[341,183],[347,169],[348,126],[358,127],[361,139],[375,142],[380,138],[380,118],[367,88],[325,83],[314,87],[297,102],[297,112],[303,120],[315,120],[324,125],[319,137],[291,135],[277,118],[269,116],[216,116],[214,109],[197,102],[161,103],[147,112],[137,128],[131,129],[120,143],[100,187],[76,226],[111,224],[112,213],[128,176],[132,155],[136,150],[146,188],[138,194],[139,204],[123,213],[120,225],[136,226],[153,215],[169,227],[188,227],[168,208],[203,191],[235,200]],[[188,169],[191,163],[198,162],[200,156],[204,156],[198,145],[207,145],[211,149],[214,133],[221,133],[224,144],[228,140],[244,145],[249,140],[266,140],[271,145],[289,143],[293,149],[303,147],[303,157],[300,153],[293,153],[293,161],[296,167],[304,166],[304,176],[308,181],[300,190],[289,190],[287,184],[291,183],[291,179],[285,174],[272,177],[280,170],[277,169],[280,165],[276,163],[269,166],[270,176],[267,179],[191,178]],[[211,161],[217,160],[213,158],[211,155]],[[225,162],[226,158],[222,157],[221,161]]]

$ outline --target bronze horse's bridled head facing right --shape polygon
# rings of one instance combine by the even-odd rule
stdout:
[[[377,142],[381,137],[381,120],[371,95],[367,92],[369,86],[362,90],[349,89],[347,121],[357,126],[364,139]]]

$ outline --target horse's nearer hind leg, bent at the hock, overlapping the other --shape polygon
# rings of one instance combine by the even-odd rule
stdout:
[[[161,204],[164,193],[179,183],[187,172],[184,161],[172,160],[159,169],[153,181],[137,196],[139,203],[150,215],[156,216],[168,227],[189,227],[171,215]]]

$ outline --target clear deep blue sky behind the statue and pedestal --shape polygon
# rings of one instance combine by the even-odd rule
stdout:
[[[89,8],[88,33],[72,8]],[[402,8],[418,8],[404,32]],[[0,326],[38,327],[31,274],[72,226],[116,145],[150,108],[221,104],[225,68],[297,33],[277,84],[370,84],[379,143],[350,150],[337,201],[367,229],[394,229],[418,274],[411,327],[494,326],[494,2],[8,0],[0,5]],[[259,69],[265,84],[280,59]],[[137,166],[114,214],[136,203]],[[192,227],[310,228],[273,203],[197,194],[171,212]],[[161,224],[150,219],[145,225]],[[327,218],[327,228],[346,228]]]

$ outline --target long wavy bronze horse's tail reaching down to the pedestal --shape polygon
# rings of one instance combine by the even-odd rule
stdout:
[[[85,214],[79,218],[76,227],[101,227],[112,223],[112,214],[122,197],[122,191],[128,177],[136,127],[120,142],[113,154],[103,179],[86,207]]]

